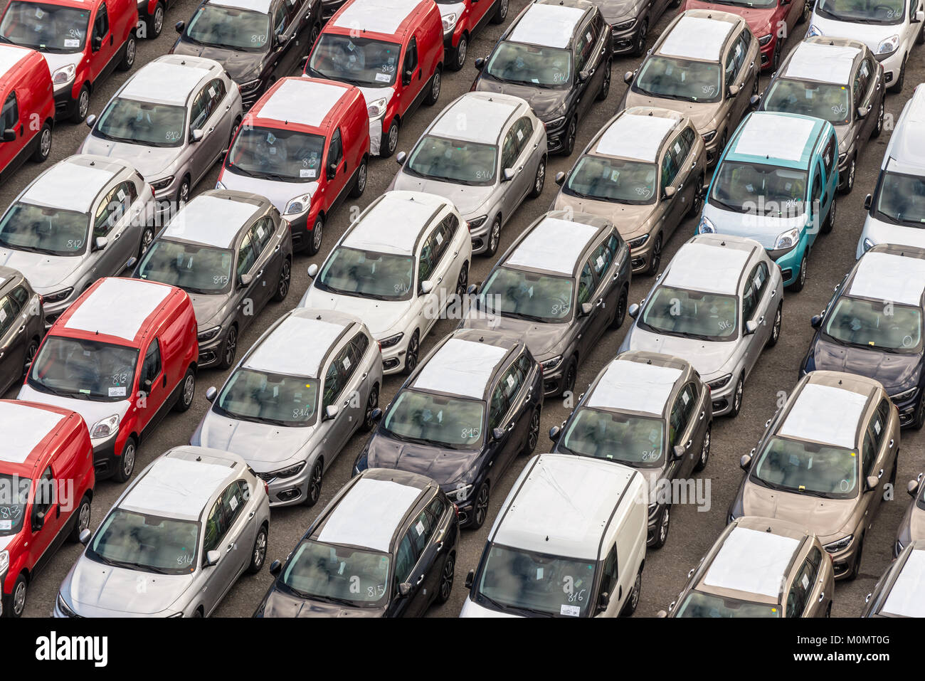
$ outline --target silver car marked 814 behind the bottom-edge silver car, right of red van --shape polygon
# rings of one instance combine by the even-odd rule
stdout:
[[[273,506],[314,506],[321,478],[357,430],[370,430],[382,386],[382,353],[354,316],[301,307],[244,355],[192,445],[237,452],[269,485]],[[376,413],[376,415],[374,415]]]

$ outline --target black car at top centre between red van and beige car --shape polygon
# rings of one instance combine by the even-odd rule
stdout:
[[[571,155],[578,121],[611,90],[611,27],[586,0],[536,0],[475,60],[474,91],[523,97],[546,126],[549,151]]]

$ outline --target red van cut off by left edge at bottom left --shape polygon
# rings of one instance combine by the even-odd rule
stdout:
[[[35,576],[90,526],[93,446],[68,409],[0,400],[0,615],[19,617]]]

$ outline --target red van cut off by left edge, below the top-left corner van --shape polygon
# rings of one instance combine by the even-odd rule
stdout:
[[[0,182],[27,156],[42,163],[52,151],[52,77],[35,50],[0,44]]]

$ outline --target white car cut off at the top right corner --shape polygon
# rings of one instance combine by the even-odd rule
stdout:
[[[819,0],[807,37],[853,38],[866,43],[883,65],[883,80],[898,93],[906,80],[912,45],[925,39],[922,0]]]

